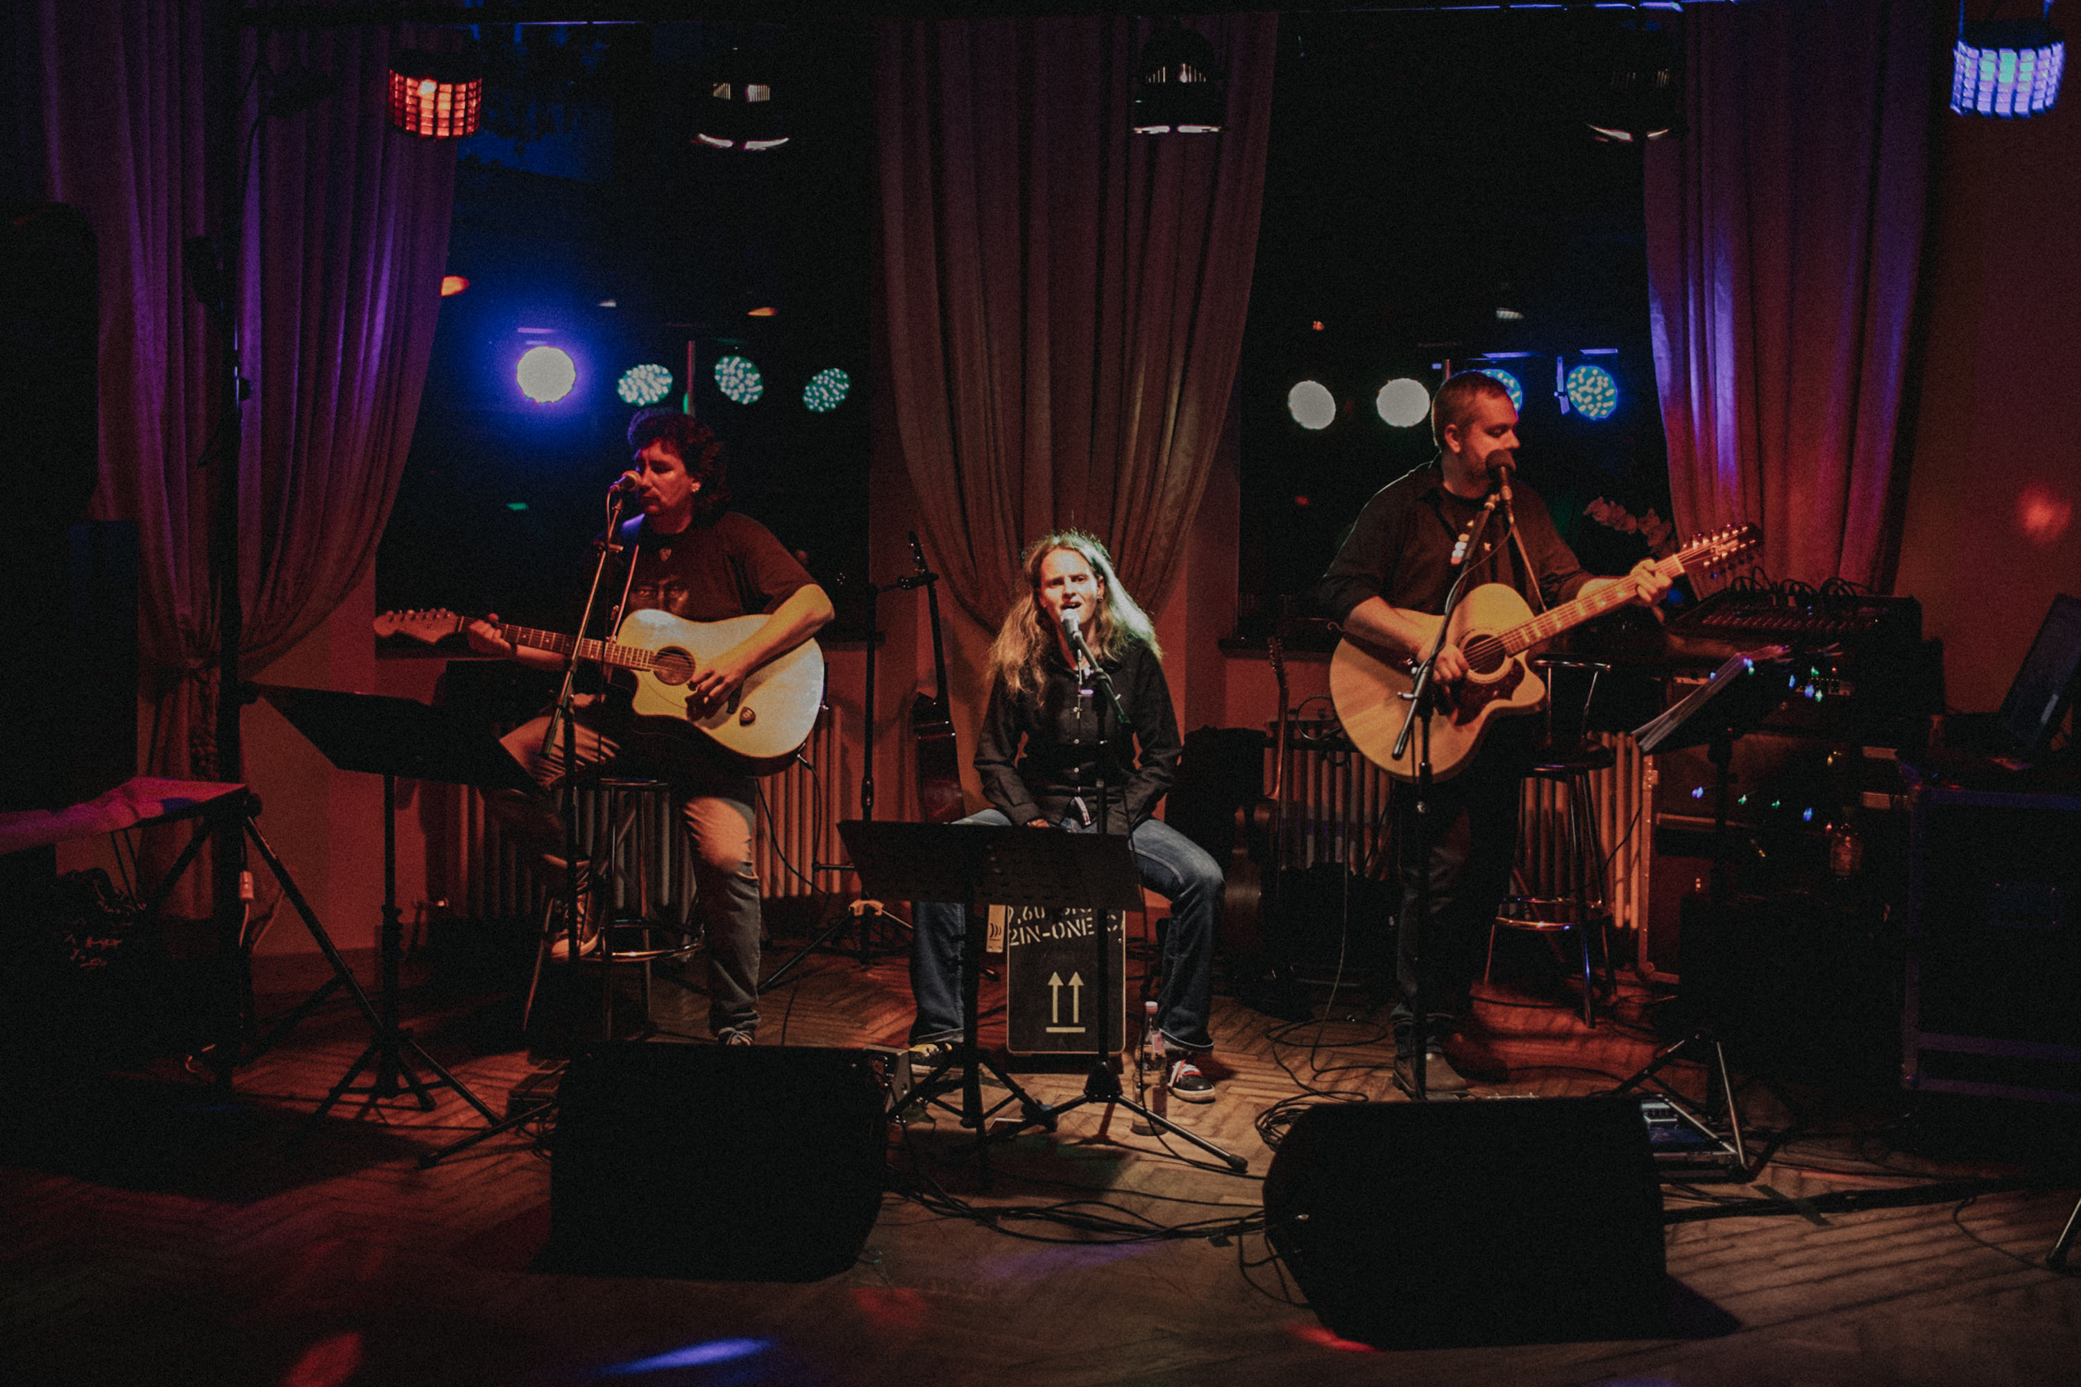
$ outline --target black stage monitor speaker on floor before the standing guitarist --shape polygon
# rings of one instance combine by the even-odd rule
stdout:
[[[1629,1096],[1313,1106],[1265,1173],[1265,1235],[1359,1343],[1669,1331],[1663,1196]]]

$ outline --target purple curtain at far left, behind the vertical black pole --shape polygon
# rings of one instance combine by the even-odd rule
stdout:
[[[94,516],[137,520],[139,636],[158,676],[150,769],[212,778],[216,599],[210,588],[212,339],[183,281],[206,227],[208,110],[221,44],[206,0],[23,0],[42,87],[44,195],[100,239],[100,487]],[[260,125],[241,210],[241,668],[316,628],[368,572],[404,470],[447,258],[454,146],[385,121],[389,29],[266,40],[275,71],[337,81]],[[248,87],[237,129],[258,112]],[[208,127],[208,129],[206,129]],[[235,177],[235,173],[233,173]],[[196,873],[189,875],[196,880]]]

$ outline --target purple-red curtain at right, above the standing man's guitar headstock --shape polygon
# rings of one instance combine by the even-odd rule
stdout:
[[[1681,530],[1758,522],[1773,578],[1892,580],[1933,15],[1684,10],[1690,129],[1646,166],[1669,491]]]

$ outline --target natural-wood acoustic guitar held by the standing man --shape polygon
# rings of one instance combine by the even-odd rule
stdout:
[[[1681,551],[1656,561],[1654,572],[1677,578],[1686,572],[1711,572],[1738,553],[1754,547],[1763,532],[1752,524],[1733,524],[1694,539]],[[1482,738],[1498,717],[1536,713],[1546,705],[1546,684],[1525,668],[1525,651],[1552,640],[1565,630],[1604,616],[1629,601],[1629,586],[1615,584],[1592,597],[1577,597],[1532,616],[1532,607],[1515,588],[1484,582],[1467,593],[1453,611],[1448,638],[1467,657],[1467,678],[1446,692],[1432,684],[1436,715],[1430,730],[1432,780],[1446,780],[1465,769]],[[1423,651],[1438,636],[1438,618],[1423,622]],[[1409,736],[1403,755],[1394,755],[1394,738],[1411,711],[1415,688],[1413,659],[1344,632],[1330,657],[1330,701],[1344,724],[1344,736],[1359,753],[1396,780],[1417,778],[1417,738]]]

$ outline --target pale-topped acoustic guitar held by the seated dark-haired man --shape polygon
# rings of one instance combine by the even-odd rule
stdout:
[[[375,620],[379,636],[410,636],[433,645],[454,636],[470,618],[445,609],[385,611]],[[803,640],[793,651],[768,659],[745,678],[743,688],[705,717],[687,707],[687,682],[708,661],[749,638],[764,616],[735,616],[722,622],[689,622],[670,611],[631,611],[614,640],[574,640],[562,632],[499,624],[499,638],[531,651],[591,659],[610,670],[635,674],[631,711],[645,730],[687,730],[705,738],[753,776],[787,767],[810,740],[824,703],[824,651]]]

